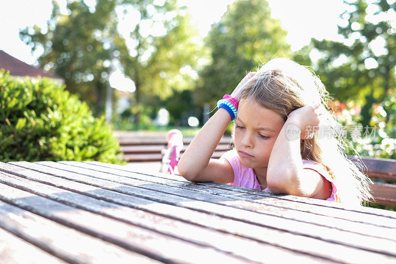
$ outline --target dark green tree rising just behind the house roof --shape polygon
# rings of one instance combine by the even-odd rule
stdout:
[[[84,1],[68,1],[68,14],[61,13],[56,1],[52,4],[48,29],[26,28],[20,37],[32,46],[32,52],[43,49],[39,65],[63,77],[66,89],[78,94],[100,115],[111,57],[104,37],[113,26],[116,2],[98,0],[93,10]]]

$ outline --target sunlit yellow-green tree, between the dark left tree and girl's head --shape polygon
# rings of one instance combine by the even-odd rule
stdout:
[[[136,56],[125,55],[128,54],[127,47],[121,52],[125,55],[120,58],[125,73],[135,82],[132,112],[138,120],[144,105],[153,101],[164,102],[175,93],[194,89],[198,77],[198,59],[204,49],[198,43],[198,31],[191,26],[185,7],[164,25],[170,28],[168,33],[155,39],[139,35],[137,27],[131,34],[137,41],[138,53]],[[142,59],[145,53],[150,55]]]

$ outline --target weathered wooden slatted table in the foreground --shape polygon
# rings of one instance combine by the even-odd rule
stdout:
[[[0,171],[0,263],[396,262],[393,211],[100,162]]]

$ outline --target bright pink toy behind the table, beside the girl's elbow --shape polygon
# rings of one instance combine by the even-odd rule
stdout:
[[[175,168],[179,162],[180,152],[183,149],[183,135],[180,130],[171,129],[166,133],[168,147],[162,150],[161,172],[175,174]]]

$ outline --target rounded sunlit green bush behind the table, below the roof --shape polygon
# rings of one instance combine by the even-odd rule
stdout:
[[[0,161],[117,158],[117,139],[104,118],[50,79],[13,79],[0,71]]]

